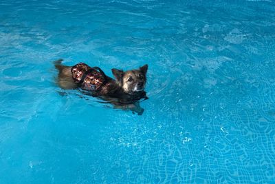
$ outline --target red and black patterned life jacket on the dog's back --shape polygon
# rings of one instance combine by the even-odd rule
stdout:
[[[100,90],[102,85],[107,82],[107,77],[100,68],[91,68],[85,63],[74,65],[71,72],[74,82],[84,90]]]

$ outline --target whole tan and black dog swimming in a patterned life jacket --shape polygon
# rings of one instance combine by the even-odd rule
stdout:
[[[137,70],[125,72],[113,68],[111,72],[115,79],[112,79],[98,67],[91,68],[85,63],[67,66],[62,61],[63,59],[54,61],[58,70],[56,83],[60,88],[79,89],[83,94],[112,103],[114,108],[131,110],[139,115],[144,112],[138,101],[148,99],[145,92],[147,64]]]

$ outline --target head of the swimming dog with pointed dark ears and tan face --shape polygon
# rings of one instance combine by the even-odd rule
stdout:
[[[132,94],[144,91],[147,70],[148,65],[144,65],[137,70],[128,70],[126,72],[113,68],[112,72],[124,92]]]

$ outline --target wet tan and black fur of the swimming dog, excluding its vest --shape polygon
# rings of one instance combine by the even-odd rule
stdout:
[[[62,61],[62,59],[54,61],[54,66],[58,70],[58,78],[56,79],[56,83],[64,90],[73,90],[79,88],[72,77],[72,66],[63,65]],[[131,110],[133,112],[137,112],[137,114],[142,114],[144,109],[140,107],[139,103],[132,101],[131,99],[133,96],[136,99],[147,98],[146,92],[144,92],[147,69],[148,65],[144,65],[142,68],[140,68],[140,70],[129,70],[126,72],[118,69],[112,69],[115,80],[111,79],[109,76],[107,77],[107,82],[111,83],[111,85],[109,85],[108,88],[102,88],[102,91],[100,91],[98,94],[93,93],[91,95],[98,96],[101,99],[112,103],[114,108]],[[143,79],[139,78],[141,74]],[[131,83],[128,81],[130,76],[133,78]],[[133,85],[133,83],[135,85]],[[133,92],[133,88],[136,88],[137,83],[143,83],[144,85],[141,92]]]

